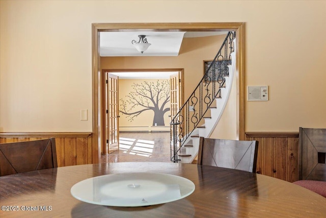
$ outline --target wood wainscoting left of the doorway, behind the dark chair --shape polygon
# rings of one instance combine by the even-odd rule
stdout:
[[[46,138],[56,139],[58,167],[96,163],[93,160],[92,133],[89,132],[0,133],[0,143]]]

